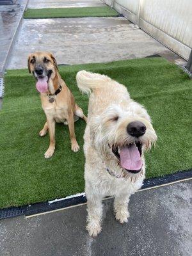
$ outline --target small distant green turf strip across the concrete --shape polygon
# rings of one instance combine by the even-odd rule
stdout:
[[[24,19],[71,18],[71,17],[114,17],[118,12],[109,6],[81,8],[27,9]]]

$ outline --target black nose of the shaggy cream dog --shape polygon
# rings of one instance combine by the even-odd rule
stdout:
[[[133,137],[140,137],[145,134],[146,126],[140,121],[134,121],[127,125],[127,132]]]

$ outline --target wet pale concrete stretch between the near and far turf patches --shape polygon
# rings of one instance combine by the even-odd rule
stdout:
[[[34,51],[53,52],[59,64],[172,53],[124,17],[23,20],[8,68],[26,68]]]

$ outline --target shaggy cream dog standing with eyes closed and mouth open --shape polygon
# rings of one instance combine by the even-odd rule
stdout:
[[[76,78],[79,89],[90,94],[84,132],[86,228],[90,236],[97,236],[105,196],[115,196],[116,220],[127,222],[129,196],[145,178],[143,152],[157,136],[147,111],[131,100],[124,85],[84,70]]]

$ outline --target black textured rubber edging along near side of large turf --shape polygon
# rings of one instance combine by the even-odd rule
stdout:
[[[170,175],[164,175],[163,177],[156,177],[152,179],[144,180],[142,189],[153,188],[156,186],[162,186],[170,184],[172,182],[178,182],[179,180],[192,179],[192,169],[180,171]],[[20,215],[30,216],[33,214],[39,214],[42,212],[49,212],[56,209],[66,208],[78,204],[86,203],[86,196],[82,193],[79,196],[71,196],[69,198],[63,198],[62,200],[56,200],[52,202],[44,202],[33,205],[24,205],[20,207],[10,207],[0,209],[0,220],[6,218],[12,218]]]

